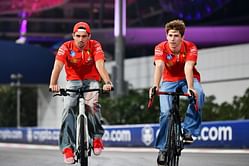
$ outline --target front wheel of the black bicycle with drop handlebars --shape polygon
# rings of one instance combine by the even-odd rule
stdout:
[[[168,150],[166,154],[166,166],[178,166],[179,156],[177,155],[177,124],[174,121],[173,115],[170,116],[168,126]]]

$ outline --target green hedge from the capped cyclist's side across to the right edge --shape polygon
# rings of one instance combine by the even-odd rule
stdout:
[[[158,123],[159,101],[155,98],[150,111],[145,111],[148,102],[148,90],[131,90],[127,96],[121,98],[103,98],[103,116],[111,124]],[[244,96],[235,96],[232,103],[217,104],[215,96],[207,96],[202,112],[203,121],[237,120],[249,118],[249,89]],[[188,105],[187,99],[180,100],[180,114],[184,117]]]

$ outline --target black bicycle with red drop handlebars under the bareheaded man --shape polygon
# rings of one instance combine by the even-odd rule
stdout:
[[[154,96],[155,95],[171,95],[173,96],[172,100],[172,109],[169,115],[168,122],[168,135],[167,135],[167,153],[165,154],[165,166],[178,166],[179,165],[179,157],[181,155],[181,151],[184,149],[184,134],[181,128],[181,117],[180,117],[180,96],[187,96],[193,99],[195,104],[195,109],[197,108],[197,103],[195,100],[195,95],[193,91],[190,91],[191,95],[188,93],[183,93],[180,90],[180,87],[176,89],[175,92],[161,92],[156,91],[156,87],[152,88],[152,95],[148,103],[148,109],[152,106]]]

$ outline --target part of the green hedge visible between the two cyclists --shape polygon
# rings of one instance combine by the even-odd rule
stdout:
[[[159,118],[158,102],[147,111],[148,90],[131,90],[119,98],[101,97],[102,114],[110,124],[155,123]]]

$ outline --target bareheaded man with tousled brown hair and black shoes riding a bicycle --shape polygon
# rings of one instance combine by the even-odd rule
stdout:
[[[198,102],[198,110],[195,110],[194,104],[190,103],[182,123],[183,139],[187,143],[192,143],[192,135],[198,136],[200,133],[204,104],[200,74],[195,68],[198,55],[197,47],[192,42],[183,40],[185,24],[182,20],[173,20],[167,23],[165,32],[167,41],[163,41],[155,47],[153,87],[156,87],[156,90],[173,92],[179,85],[182,85],[181,90],[184,93],[190,94],[190,90],[194,92]],[[151,89],[149,95],[151,96]],[[165,163],[167,125],[171,108],[172,96],[160,96],[160,130],[155,142],[155,148],[159,149],[158,165]]]

